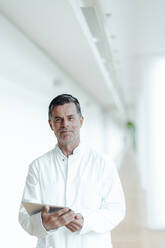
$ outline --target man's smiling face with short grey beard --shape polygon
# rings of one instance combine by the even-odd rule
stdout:
[[[80,117],[77,113],[74,103],[66,103],[54,107],[49,124],[59,144],[74,145],[80,139],[83,117]]]

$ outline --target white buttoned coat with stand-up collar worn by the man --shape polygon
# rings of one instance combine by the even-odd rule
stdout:
[[[29,166],[23,201],[66,206],[84,217],[83,228],[46,231],[41,213],[29,216],[21,205],[19,222],[38,238],[37,248],[111,248],[110,231],[124,218],[121,183],[111,161],[80,144],[73,155],[56,147]]]

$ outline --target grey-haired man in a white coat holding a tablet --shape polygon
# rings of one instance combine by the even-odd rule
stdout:
[[[59,95],[49,105],[49,125],[58,144],[29,167],[23,201],[42,203],[22,227],[37,248],[111,248],[110,231],[124,218],[125,202],[115,166],[80,142],[84,118],[78,100]],[[96,137],[97,138],[97,137]],[[64,206],[50,213],[48,205]]]

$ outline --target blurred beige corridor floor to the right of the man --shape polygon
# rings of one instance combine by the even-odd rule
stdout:
[[[113,248],[165,248],[165,230],[145,228],[145,192],[140,187],[140,175],[133,151],[123,158],[120,178],[125,192],[127,213],[125,220],[112,232]]]

